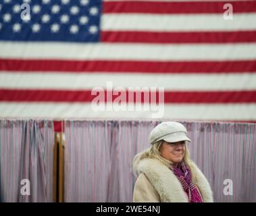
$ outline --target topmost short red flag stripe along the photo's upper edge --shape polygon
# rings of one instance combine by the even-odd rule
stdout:
[[[143,13],[143,14],[223,14],[224,5],[231,3],[233,13],[256,11],[256,1],[105,1],[103,13]]]

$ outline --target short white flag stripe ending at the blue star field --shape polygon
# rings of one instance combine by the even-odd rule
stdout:
[[[233,14],[233,20],[224,20],[224,14],[105,14],[102,30],[140,31],[230,31],[255,30],[256,14]]]

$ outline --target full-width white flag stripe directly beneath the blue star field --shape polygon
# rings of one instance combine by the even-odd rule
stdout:
[[[134,45],[74,43],[0,43],[0,57],[21,59],[238,60],[256,59],[256,43],[226,45]]]

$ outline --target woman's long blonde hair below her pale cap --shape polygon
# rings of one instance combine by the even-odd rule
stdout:
[[[134,157],[133,171],[134,171],[135,175],[138,175],[138,173],[137,173],[138,171],[136,170],[138,162],[145,158],[158,159],[159,161],[161,161],[161,163],[163,163],[164,165],[166,165],[172,169],[172,165],[173,165],[172,161],[168,161],[167,159],[161,157],[161,153],[160,153],[161,144],[163,144],[163,140],[155,142],[154,144],[151,145],[151,148],[147,148],[146,151],[143,151],[142,153],[138,153],[138,155],[136,155]],[[192,162],[190,159],[190,153],[188,151],[188,146],[187,146],[186,141],[185,141],[185,154],[184,154],[182,161],[188,167],[190,167],[190,163]]]

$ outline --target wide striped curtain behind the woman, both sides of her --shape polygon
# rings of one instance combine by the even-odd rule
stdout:
[[[191,157],[209,180],[215,202],[256,202],[256,125],[180,122],[193,140]],[[65,202],[130,202],[132,159],[150,146],[149,133],[159,123],[65,121]],[[232,195],[224,193],[227,186]]]

